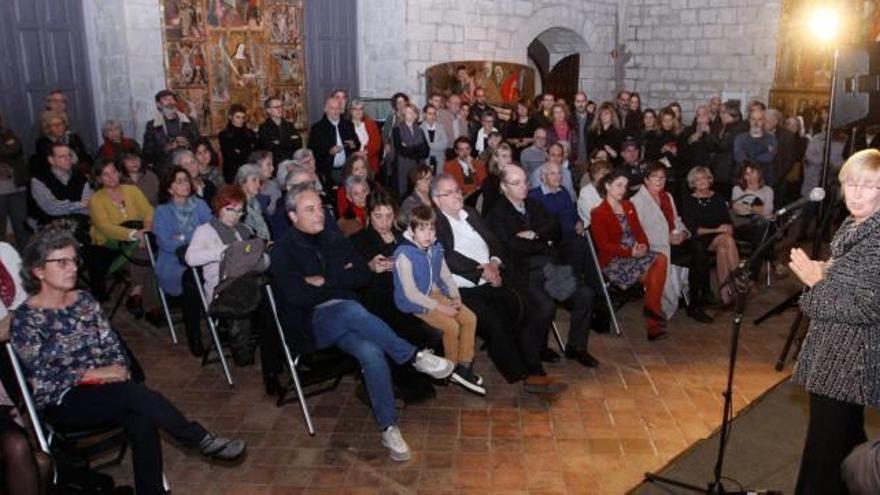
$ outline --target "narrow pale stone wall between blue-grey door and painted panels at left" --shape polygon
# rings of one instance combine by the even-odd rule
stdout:
[[[86,39],[95,121],[122,122],[141,141],[165,87],[158,0],[85,0]]]

